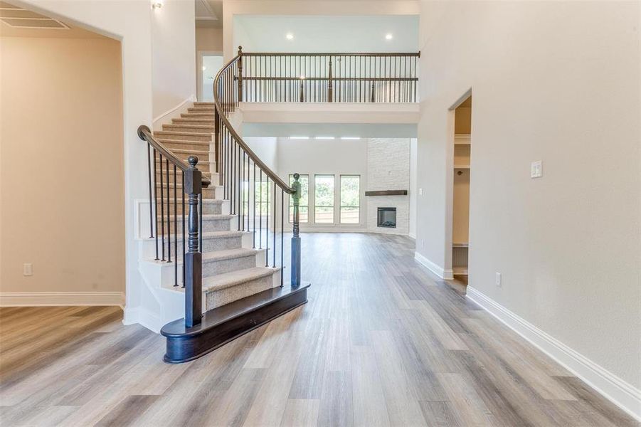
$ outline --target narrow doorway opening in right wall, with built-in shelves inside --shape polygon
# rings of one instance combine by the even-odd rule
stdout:
[[[454,183],[452,185],[452,272],[467,285],[470,249],[470,159],[472,148],[472,96],[455,108]]]

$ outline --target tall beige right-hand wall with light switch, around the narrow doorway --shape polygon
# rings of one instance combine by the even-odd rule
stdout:
[[[416,242],[447,268],[448,107],[472,88],[470,286],[637,389],[639,8],[422,2]]]

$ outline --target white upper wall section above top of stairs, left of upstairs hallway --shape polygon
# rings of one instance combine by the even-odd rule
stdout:
[[[194,1],[165,0],[152,17],[153,114],[196,96]]]

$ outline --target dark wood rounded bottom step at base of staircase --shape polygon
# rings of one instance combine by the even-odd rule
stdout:
[[[164,361],[183,363],[198,359],[270,320],[307,302],[309,283],[297,288],[285,285],[250,295],[203,314],[200,325],[185,327],[179,319],[162,327],[167,339]]]

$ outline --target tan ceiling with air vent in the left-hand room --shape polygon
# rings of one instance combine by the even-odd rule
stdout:
[[[70,26],[19,6],[0,1],[0,36],[46,38],[103,38],[100,34]]]

